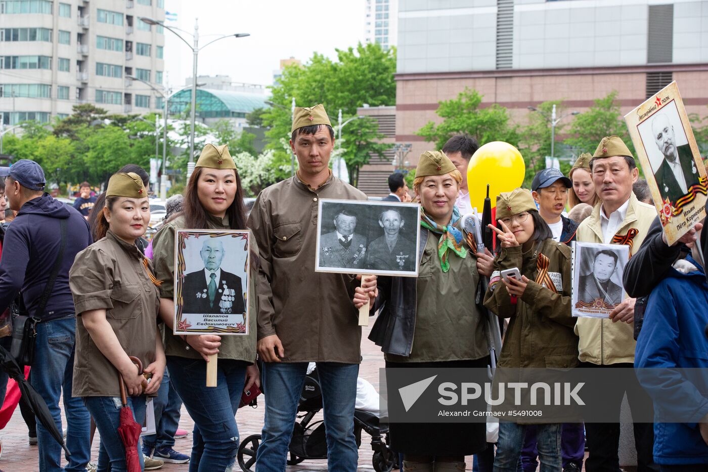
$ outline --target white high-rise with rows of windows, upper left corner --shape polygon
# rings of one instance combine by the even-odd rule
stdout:
[[[46,123],[78,103],[159,111],[164,0],[0,0],[0,120]]]

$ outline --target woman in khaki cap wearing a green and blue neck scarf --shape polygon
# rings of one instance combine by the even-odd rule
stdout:
[[[485,318],[476,298],[493,258],[475,253],[476,245],[464,235],[455,206],[461,181],[442,152],[421,155],[413,181],[421,202],[418,278],[379,277],[372,308],[384,304],[369,339],[382,347],[387,369],[489,364]],[[404,471],[464,471],[464,456],[486,449],[484,423],[393,422],[390,432],[392,449],[404,454]]]

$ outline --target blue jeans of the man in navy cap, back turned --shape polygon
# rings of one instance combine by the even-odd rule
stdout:
[[[64,391],[64,415],[67,417],[67,448],[69,463],[65,469],[84,471],[91,459],[89,429],[91,417],[79,397],[72,397],[74,376],[74,315],[37,324],[35,339],[35,361],[32,364],[30,383],[44,398],[59,432],[62,432],[62,416],[59,410],[59,396]],[[60,472],[62,469],[62,447],[50,432],[37,421],[39,441],[40,471]]]

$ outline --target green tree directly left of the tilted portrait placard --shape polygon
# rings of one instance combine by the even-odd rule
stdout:
[[[627,125],[624,124],[616,99],[617,91],[612,91],[603,99],[595,99],[593,106],[575,117],[568,130],[571,137],[565,142],[573,147],[576,154],[595,152],[603,137],[611,135],[621,137],[629,150],[634,152],[632,139],[627,133]]]

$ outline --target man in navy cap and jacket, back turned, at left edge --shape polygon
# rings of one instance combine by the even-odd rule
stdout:
[[[89,224],[74,208],[44,192],[47,182],[36,162],[22,159],[0,167],[0,178],[5,179],[10,208],[18,212],[5,233],[0,259],[0,313],[21,293],[28,315],[39,320],[31,383],[59,431],[59,397],[64,393],[71,456],[62,468],[61,447],[38,423],[39,470],[83,471],[91,457],[91,419],[81,398],[72,397],[76,317],[69,269],[76,254],[93,242]]]

